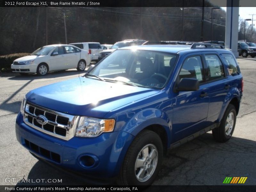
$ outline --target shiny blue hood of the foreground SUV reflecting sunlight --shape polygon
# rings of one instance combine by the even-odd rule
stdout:
[[[78,77],[30,91],[27,101],[70,115],[104,117],[109,111],[161,90]]]

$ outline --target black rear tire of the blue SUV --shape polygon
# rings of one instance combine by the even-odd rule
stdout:
[[[234,120],[233,120],[232,130],[230,132],[230,129],[228,129],[226,131],[225,126],[227,123],[228,116],[231,113],[233,113],[233,115],[234,115]],[[215,128],[212,130],[212,136],[216,141],[224,143],[232,137],[232,134],[235,130],[235,126],[236,126],[236,108],[234,105],[229,104],[228,108],[226,109],[226,111],[221,119],[220,126],[218,128]]]

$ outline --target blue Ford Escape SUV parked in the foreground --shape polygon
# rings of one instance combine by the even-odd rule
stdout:
[[[84,177],[150,185],[167,149],[211,130],[219,142],[234,132],[243,77],[233,53],[218,46],[118,49],[82,77],[28,92],[17,140]]]

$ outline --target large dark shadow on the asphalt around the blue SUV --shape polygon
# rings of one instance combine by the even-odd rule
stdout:
[[[217,143],[211,133],[206,133],[170,150],[164,157],[153,185],[221,185],[228,176],[248,177],[246,184],[255,184],[255,146],[256,142],[253,140],[236,137],[226,143]],[[42,161],[34,164],[26,180],[28,179],[62,180],[61,183],[34,183],[36,185],[91,184],[81,176],[70,175]],[[26,185],[29,184],[31,183]]]

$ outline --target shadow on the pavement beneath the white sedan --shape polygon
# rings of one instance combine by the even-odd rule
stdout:
[[[36,74],[29,74],[27,76],[21,76],[14,74],[16,76],[11,76],[8,78],[9,80],[30,80],[30,79],[49,79],[49,78],[58,78],[58,77],[64,77],[64,76],[83,76],[84,73],[86,73],[87,70],[84,71],[77,71],[76,69],[74,70],[63,70],[63,71],[55,71],[55,72],[50,72],[46,76],[37,76]],[[5,76],[6,77],[6,76]],[[8,76],[7,76],[8,77]]]

